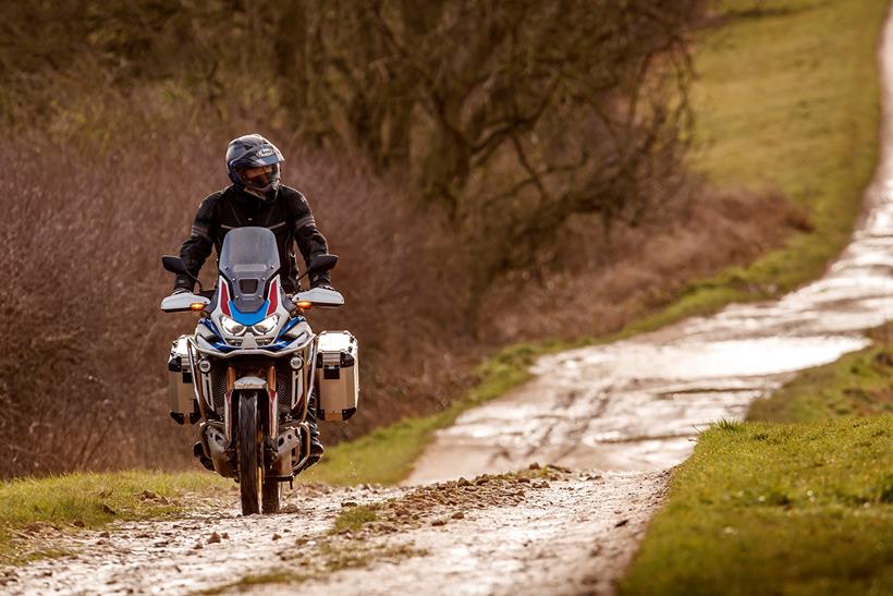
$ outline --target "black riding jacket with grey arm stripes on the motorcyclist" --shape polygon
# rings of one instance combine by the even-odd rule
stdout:
[[[288,293],[297,290],[298,273],[294,245],[297,244],[305,264],[309,264],[315,256],[329,252],[326,236],[316,229],[310,206],[299,192],[281,186],[276,198],[265,203],[237,186],[230,185],[208,196],[198,207],[192,233],[180,248],[180,257],[189,272],[198,277],[198,271],[205,259],[210,256],[211,248],[217,250],[219,258],[220,246],[227,232],[244,226],[268,228],[276,234],[282,267],[282,289]],[[311,279],[310,284],[330,281],[329,273],[325,272]],[[174,288],[192,291],[193,287],[193,280],[188,277],[176,276]]]

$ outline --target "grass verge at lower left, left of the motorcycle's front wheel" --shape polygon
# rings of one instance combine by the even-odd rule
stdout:
[[[13,538],[34,524],[62,531],[96,528],[117,520],[175,515],[184,491],[209,492],[231,483],[207,473],[115,472],[20,478],[0,483],[0,562],[51,556],[20,550]],[[144,498],[149,490],[161,497]]]

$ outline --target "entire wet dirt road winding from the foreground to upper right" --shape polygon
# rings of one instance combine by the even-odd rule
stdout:
[[[891,39],[888,24],[888,108]],[[889,112],[884,122],[868,215],[815,283],[778,302],[543,358],[536,380],[440,433],[406,487],[301,487],[288,497],[288,512],[267,518],[238,516],[231,496],[195,503],[195,513],[179,521],[76,536],[50,531],[40,539],[74,555],[5,570],[0,587],[11,594],[612,592],[660,502],[668,470],[690,452],[699,428],[741,417],[796,370],[859,349],[860,330],[893,318]],[[570,470],[477,477],[531,462]],[[436,481],[450,482],[426,484]],[[333,530],[339,516],[354,527]]]

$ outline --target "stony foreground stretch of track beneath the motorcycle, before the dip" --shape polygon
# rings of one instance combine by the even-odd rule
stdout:
[[[299,487],[268,516],[196,502],[187,519],[50,532],[42,539],[74,555],[8,570],[3,591],[610,593],[664,481],[547,467],[402,489]]]

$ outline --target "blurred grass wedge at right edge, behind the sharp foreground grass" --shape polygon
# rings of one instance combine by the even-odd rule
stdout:
[[[874,331],[874,344],[810,368],[750,405],[747,419],[819,422],[837,416],[893,414],[893,326]]]

